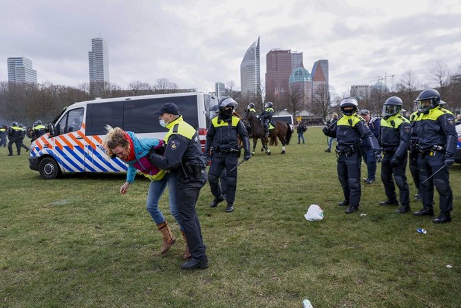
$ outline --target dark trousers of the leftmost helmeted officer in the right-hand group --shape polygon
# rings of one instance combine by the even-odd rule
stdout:
[[[360,205],[362,194],[360,183],[360,167],[362,158],[358,153],[349,157],[340,154],[338,157],[338,178],[343,187],[344,200],[353,207]]]

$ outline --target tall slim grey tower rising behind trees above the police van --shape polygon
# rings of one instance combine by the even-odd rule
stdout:
[[[88,52],[89,85],[92,89],[103,89],[109,83],[109,50],[103,38],[92,39],[92,51]]]

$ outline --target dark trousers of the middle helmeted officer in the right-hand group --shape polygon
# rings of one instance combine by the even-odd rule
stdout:
[[[399,191],[400,204],[407,206],[410,203],[410,189],[407,176],[405,176],[407,156],[401,159],[396,166],[391,165],[392,156],[394,156],[394,152],[384,152],[383,161],[381,162],[381,181],[383,181],[386,196],[391,201],[397,200],[395,181]],[[394,178],[392,178],[392,175],[394,175]]]

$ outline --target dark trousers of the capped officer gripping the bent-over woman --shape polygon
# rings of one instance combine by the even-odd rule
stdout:
[[[200,189],[205,183],[205,170],[202,170],[200,178],[189,176],[189,178],[184,179],[178,176],[178,189],[176,191],[176,202],[178,203],[182,231],[186,234],[191,255],[198,260],[207,258],[200,221],[195,211],[195,203],[197,203]]]

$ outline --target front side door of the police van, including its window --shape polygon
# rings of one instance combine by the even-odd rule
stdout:
[[[87,171],[84,108],[68,110],[56,124],[56,135],[51,139],[56,161],[63,172]]]

